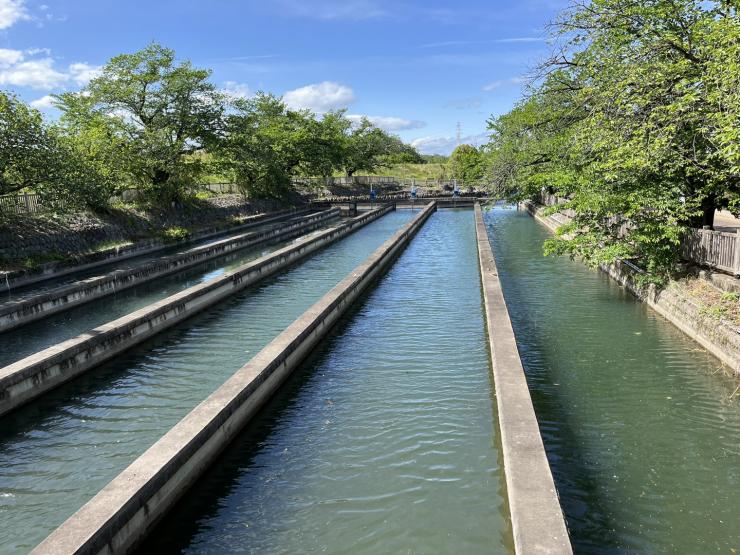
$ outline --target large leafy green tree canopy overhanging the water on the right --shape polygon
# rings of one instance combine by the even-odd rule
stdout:
[[[685,230],[740,209],[740,20],[730,2],[578,2],[552,58],[489,121],[488,171],[513,196],[567,199],[552,253],[670,273]]]

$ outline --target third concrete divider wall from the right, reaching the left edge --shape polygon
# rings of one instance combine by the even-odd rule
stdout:
[[[0,368],[0,415],[393,210],[384,206]]]

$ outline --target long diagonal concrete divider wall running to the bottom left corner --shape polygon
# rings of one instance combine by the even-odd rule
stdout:
[[[46,538],[34,553],[127,553],[408,244],[427,206]]]

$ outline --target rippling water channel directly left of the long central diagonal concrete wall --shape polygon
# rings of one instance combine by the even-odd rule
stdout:
[[[411,217],[392,212],[4,416],[0,552],[41,541]]]

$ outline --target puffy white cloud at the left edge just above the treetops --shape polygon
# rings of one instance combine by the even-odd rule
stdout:
[[[0,0],[2,1],[2,0]],[[28,59],[28,56],[43,57]],[[56,67],[47,48],[26,50],[0,49],[0,85],[49,90],[67,84],[82,86],[100,73],[100,67],[77,62],[64,70]]]

